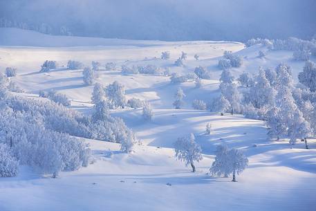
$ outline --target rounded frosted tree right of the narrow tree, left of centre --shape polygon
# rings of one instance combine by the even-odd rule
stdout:
[[[109,86],[106,86],[105,93],[106,98],[108,98],[113,109],[118,107],[122,107],[124,109],[127,100],[125,98],[125,89],[122,84],[117,81],[109,84]]]

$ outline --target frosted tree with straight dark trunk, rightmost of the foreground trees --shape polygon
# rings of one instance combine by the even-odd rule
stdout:
[[[232,181],[236,182],[236,174],[240,174],[247,167],[248,158],[239,149],[230,149],[228,159],[232,169]]]

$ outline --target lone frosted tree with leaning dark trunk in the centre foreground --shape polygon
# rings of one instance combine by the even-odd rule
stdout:
[[[199,162],[203,159],[201,147],[195,142],[194,134],[178,138],[174,143],[175,157],[184,161],[185,165],[191,165],[192,172],[196,172],[194,161]]]

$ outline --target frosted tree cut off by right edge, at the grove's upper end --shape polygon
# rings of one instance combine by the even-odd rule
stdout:
[[[307,61],[303,68],[303,72],[299,73],[299,82],[307,86],[310,91],[316,91],[316,64]]]

